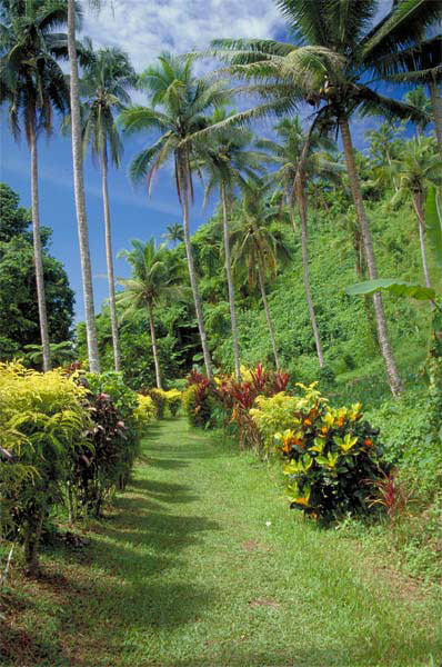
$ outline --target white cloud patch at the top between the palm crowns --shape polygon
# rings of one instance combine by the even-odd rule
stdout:
[[[283,26],[270,0],[113,0],[100,13],[84,3],[83,34],[122,48],[141,71],[164,50],[203,49],[220,37],[272,38]]]

